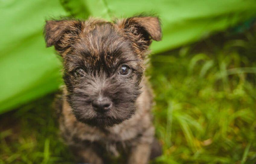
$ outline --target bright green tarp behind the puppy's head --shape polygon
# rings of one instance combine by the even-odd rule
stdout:
[[[44,20],[60,16],[111,20],[141,12],[162,20],[154,53],[197,41],[256,16],[255,0],[6,0],[0,2],[0,113],[57,90],[61,65],[46,49]]]

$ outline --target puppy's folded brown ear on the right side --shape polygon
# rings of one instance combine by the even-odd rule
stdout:
[[[160,41],[162,30],[158,17],[135,16],[117,22],[120,29],[132,34],[130,39],[137,44],[140,50],[148,49],[152,39]]]

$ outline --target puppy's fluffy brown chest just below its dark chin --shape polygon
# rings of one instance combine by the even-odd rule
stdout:
[[[66,104],[64,104],[66,105]],[[132,118],[123,121],[121,124],[110,128],[98,128],[81,123],[72,114],[70,106],[66,106],[62,111],[60,128],[66,137],[76,138],[81,141],[98,142],[123,142],[133,140],[143,133],[151,125],[148,112],[136,112]]]

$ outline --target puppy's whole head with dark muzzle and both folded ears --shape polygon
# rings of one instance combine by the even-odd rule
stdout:
[[[78,121],[114,126],[134,114],[144,56],[151,39],[161,39],[158,18],[52,20],[45,38],[63,58],[66,97]]]

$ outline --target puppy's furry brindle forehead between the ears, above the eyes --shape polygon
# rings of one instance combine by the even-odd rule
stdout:
[[[83,33],[76,45],[77,54],[91,66],[112,66],[124,60],[136,60],[129,40],[120,35],[112,24],[96,24]]]

